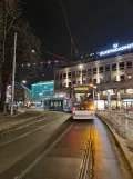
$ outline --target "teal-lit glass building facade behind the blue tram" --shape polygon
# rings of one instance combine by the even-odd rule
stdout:
[[[45,98],[52,98],[54,95],[54,82],[39,82],[32,84],[32,99],[33,101],[41,101]]]

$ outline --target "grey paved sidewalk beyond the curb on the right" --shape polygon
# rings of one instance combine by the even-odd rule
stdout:
[[[96,113],[103,117],[120,137],[126,139],[129,148],[133,150],[133,115],[120,111],[98,111]]]

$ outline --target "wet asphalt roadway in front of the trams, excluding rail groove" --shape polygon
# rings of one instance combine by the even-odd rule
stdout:
[[[133,178],[110,132],[96,117],[93,122],[68,120],[59,128],[64,117],[65,113],[51,112],[45,119],[3,133],[0,178],[79,179],[90,131],[94,149],[93,178]]]

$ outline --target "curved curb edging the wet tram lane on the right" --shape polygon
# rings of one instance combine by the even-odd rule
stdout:
[[[104,120],[105,118],[104,117],[101,117],[100,115],[96,113],[96,116],[100,118],[100,120],[106,126],[106,128],[110,130],[110,132],[112,133],[113,136],[113,139],[115,140],[115,143],[117,145],[117,147],[120,148],[125,161],[127,162],[127,166],[129,166],[129,169],[131,171],[131,173],[133,175],[133,167],[131,165],[131,162],[129,161],[129,158],[122,147],[122,145],[120,143],[119,139],[116,138],[115,133],[113,132],[112,128],[108,125],[108,122]]]

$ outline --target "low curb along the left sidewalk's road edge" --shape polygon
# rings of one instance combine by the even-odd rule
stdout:
[[[16,126],[18,126],[18,125],[22,125],[22,123],[24,123],[24,122],[27,122],[27,121],[30,121],[30,120],[33,120],[33,119],[38,119],[38,118],[41,118],[41,117],[43,117],[44,116],[44,113],[43,115],[40,115],[40,116],[38,116],[38,117],[33,117],[33,118],[29,118],[29,119],[25,119],[25,120],[23,120],[23,121],[21,121],[21,122],[18,122],[18,123],[16,123],[16,125],[11,125],[11,126],[9,126],[9,127],[7,127],[7,128],[0,128],[0,133],[1,132],[4,132],[4,131],[7,131],[8,129],[12,129],[13,127],[16,127]]]

